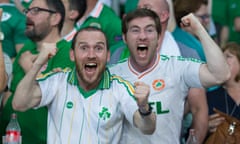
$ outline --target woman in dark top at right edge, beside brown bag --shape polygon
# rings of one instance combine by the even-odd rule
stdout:
[[[214,108],[240,120],[240,46],[236,42],[229,42],[222,50],[230,67],[231,77],[221,87],[207,92],[209,133],[215,132],[224,121],[223,117],[213,111]]]

